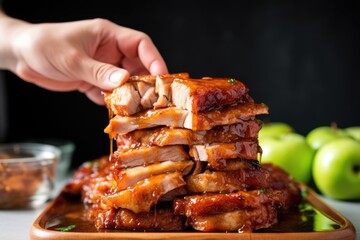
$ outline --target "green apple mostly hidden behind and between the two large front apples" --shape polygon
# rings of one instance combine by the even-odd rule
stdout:
[[[317,150],[332,140],[348,137],[349,134],[343,129],[331,126],[321,126],[311,130],[306,135],[306,141],[313,149]]]

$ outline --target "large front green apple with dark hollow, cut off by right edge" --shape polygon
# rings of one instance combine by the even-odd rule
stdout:
[[[314,156],[313,178],[330,198],[360,199],[360,142],[340,138],[322,146]]]

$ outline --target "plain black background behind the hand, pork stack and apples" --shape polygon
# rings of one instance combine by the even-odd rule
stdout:
[[[3,0],[3,8],[33,23],[101,17],[146,32],[170,72],[242,80],[270,107],[264,120],[302,134],[360,125],[359,1],[215,2]],[[6,141],[71,139],[73,166],[109,153],[104,107],[6,78]]]

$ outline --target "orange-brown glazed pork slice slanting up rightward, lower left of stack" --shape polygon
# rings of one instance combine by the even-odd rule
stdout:
[[[103,205],[125,208],[135,213],[149,212],[163,195],[185,184],[180,172],[155,175],[123,191],[106,194],[103,197]]]

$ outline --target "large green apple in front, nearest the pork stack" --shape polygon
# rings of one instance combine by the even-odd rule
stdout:
[[[259,140],[262,148],[262,163],[274,163],[294,179],[309,183],[314,150],[305,137],[297,133],[269,136]]]

